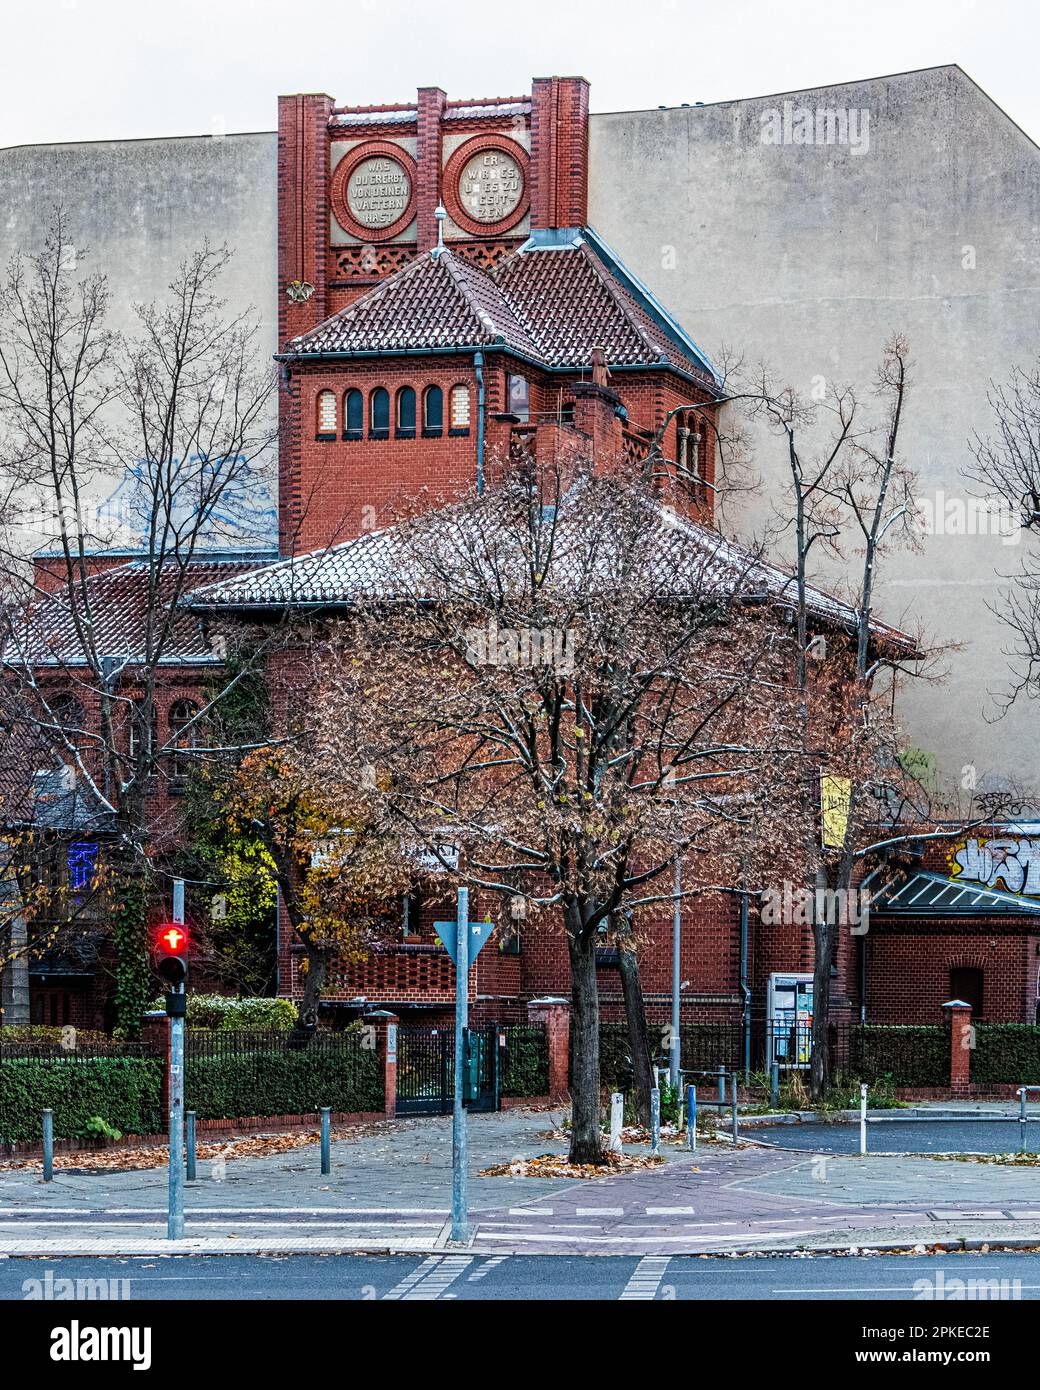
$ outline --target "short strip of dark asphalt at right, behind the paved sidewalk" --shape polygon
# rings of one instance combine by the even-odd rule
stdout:
[[[1018,1120],[875,1120],[866,1127],[869,1154],[1016,1154]],[[749,1138],[813,1154],[858,1154],[859,1125],[755,1125]],[[1040,1151],[1040,1120],[1026,1125],[1026,1144]]]

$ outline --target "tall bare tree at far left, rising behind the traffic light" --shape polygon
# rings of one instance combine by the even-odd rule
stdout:
[[[214,537],[254,530],[275,436],[257,321],[228,314],[218,293],[229,254],[200,247],[121,335],[104,277],[79,274],[57,211],[43,249],[15,257],[0,288],[7,703],[70,770],[85,828],[107,841],[124,1031],[147,998],[145,880],[174,834],[156,787],[204,714],[196,705],[160,737],[157,696],[171,669],[211,667],[221,652],[181,599]],[[127,570],[99,573],[99,552],[128,542]]]

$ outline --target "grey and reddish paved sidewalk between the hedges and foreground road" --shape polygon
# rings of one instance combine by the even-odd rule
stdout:
[[[1040,1169],[907,1155],[663,1145],[656,1169],[574,1182],[480,1177],[566,1148],[559,1112],[470,1118],[471,1248],[706,1254],[936,1243],[1040,1245]],[[200,1162],[186,1240],[165,1240],[165,1172],[0,1172],[0,1255],[434,1252],[448,1248],[450,1118],[402,1120],[332,1145]],[[638,1151],[638,1150],[635,1150]],[[645,1150],[642,1150],[645,1152]]]

